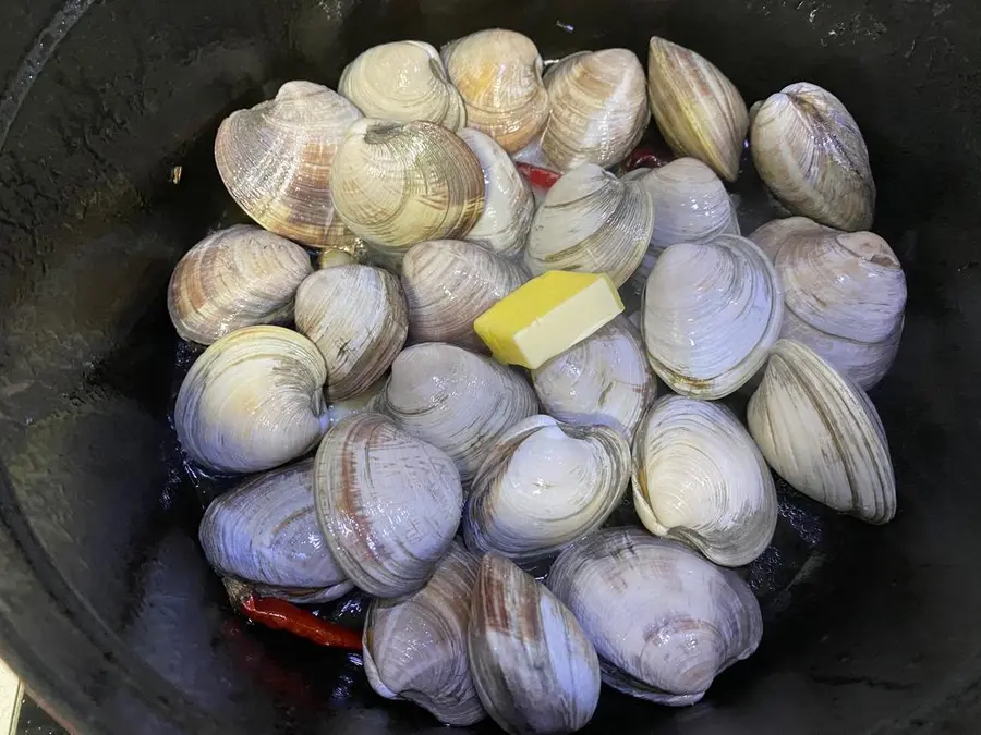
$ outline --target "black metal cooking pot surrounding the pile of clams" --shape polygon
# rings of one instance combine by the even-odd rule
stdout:
[[[822,519],[834,553],[813,554],[786,506],[782,555],[756,583],[797,576],[767,592],[759,653],[691,709],[605,693],[589,732],[968,732],[981,714],[981,7],[968,0],[0,5],[3,657],[80,732],[444,732],[375,697],[344,656],[228,613],[195,540],[198,494],[174,469],[164,293],[190,245],[241,217],[210,157],[225,114],[292,76],[331,84],[372,44],[493,25],[552,57],[645,58],[664,35],[750,102],[801,79],[833,89],[865,133],[874,229],[909,281],[899,358],[873,393],[896,520]]]

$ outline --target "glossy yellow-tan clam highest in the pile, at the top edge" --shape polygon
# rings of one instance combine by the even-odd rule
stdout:
[[[513,30],[479,30],[441,51],[447,75],[467,108],[467,125],[489,135],[509,154],[535,138],[548,119],[542,57]]]

